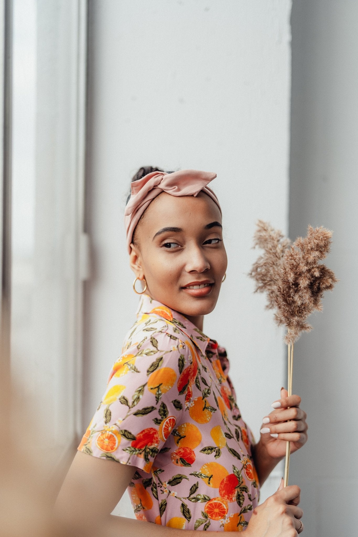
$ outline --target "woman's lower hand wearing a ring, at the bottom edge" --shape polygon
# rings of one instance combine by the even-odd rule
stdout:
[[[303,511],[297,507],[301,489],[297,485],[283,487],[283,478],[275,494],[255,507],[247,525],[247,537],[294,537],[303,532]],[[301,528],[301,529],[300,529]]]

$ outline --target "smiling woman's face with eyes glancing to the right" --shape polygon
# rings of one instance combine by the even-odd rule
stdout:
[[[227,269],[222,238],[220,210],[209,195],[162,192],[137,225],[130,266],[145,278],[145,293],[153,299],[185,316],[205,315],[215,308]],[[208,287],[184,288],[192,282],[208,282]]]

